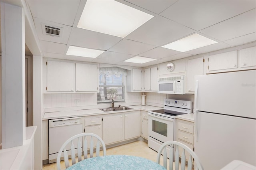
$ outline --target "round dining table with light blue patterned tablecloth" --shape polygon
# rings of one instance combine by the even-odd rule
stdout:
[[[107,155],[84,159],[67,170],[166,170],[146,158],[130,155]]]

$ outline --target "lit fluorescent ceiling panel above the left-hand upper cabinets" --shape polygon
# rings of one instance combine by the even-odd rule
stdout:
[[[80,57],[96,58],[100,54],[104,53],[102,50],[82,48],[76,46],[69,46],[66,55],[76,55]]]

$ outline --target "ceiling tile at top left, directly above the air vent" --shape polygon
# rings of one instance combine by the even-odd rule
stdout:
[[[80,0],[26,0],[33,17],[73,26]]]

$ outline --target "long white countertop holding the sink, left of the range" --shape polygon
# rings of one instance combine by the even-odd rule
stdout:
[[[132,110],[104,112],[104,111],[101,111],[100,109],[84,109],[84,110],[75,110],[75,111],[46,112],[44,113],[43,120],[61,119],[61,118],[68,118],[68,117],[80,117],[80,116],[106,115],[110,113],[120,113],[120,112],[136,111],[136,110],[152,111],[152,110],[163,109],[162,107],[155,107],[155,106],[148,106],[148,105],[146,106],[135,105],[135,106],[127,106],[127,107],[132,108]]]

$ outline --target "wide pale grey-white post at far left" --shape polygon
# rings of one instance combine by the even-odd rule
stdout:
[[[1,40],[2,148],[10,148],[21,146],[26,139],[25,23],[21,7],[1,2]]]

